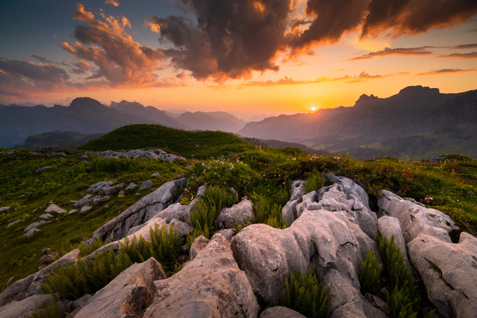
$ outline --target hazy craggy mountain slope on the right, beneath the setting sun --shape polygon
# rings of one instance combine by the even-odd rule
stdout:
[[[352,107],[247,123],[238,133],[304,143],[315,149],[326,146],[333,151],[447,128],[457,129],[462,138],[469,137],[475,143],[476,122],[477,90],[443,94],[437,88],[409,86],[387,98],[363,94]]]

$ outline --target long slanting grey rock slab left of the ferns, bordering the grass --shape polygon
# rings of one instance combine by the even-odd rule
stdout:
[[[173,194],[187,182],[187,178],[164,183],[156,191],[146,195],[123,213],[97,229],[93,239],[122,239],[131,228],[144,224],[172,204]]]

